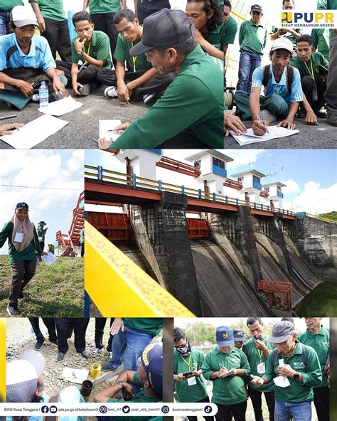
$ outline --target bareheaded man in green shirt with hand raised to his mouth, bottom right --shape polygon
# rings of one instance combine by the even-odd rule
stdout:
[[[243,344],[242,351],[246,354],[250,363],[252,375],[263,375],[266,371],[269,352],[274,349],[274,346],[267,341],[267,336],[264,335],[263,331],[264,326],[259,317],[250,317],[247,319],[247,326],[250,329],[252,338]],[[248,378],[248,395],[252,400],[256,421],[263,421],[262,393],[264,393],[267,403],[269,420],[274,421],[274,383],[256,386],[252,383],[252,379]]]

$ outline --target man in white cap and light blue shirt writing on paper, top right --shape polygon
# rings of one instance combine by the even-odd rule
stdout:
[[[299,70],[294,68],[294,79],[289,80],[289,65],[292,54],[292,43],[286,38],[278,38],[272,44],[269,67],[269,79],[264,86],[264,96],[260,96],[262,81],[264,79],[264,67],[255,69],[252,75],[252,92],[235,92],[237,108],[242,112],[243,119],[252,117],[252,129],[254,134],[262,136],[267,132],[269,122],[261,119],[261,110],[268,110],[281,118],[282,122],[277,127],[294,129],[294,117],[303,101],[301,77]],[[291,84],[290,84],[291,82]],[[288,86],[290,85],[290,86]]]

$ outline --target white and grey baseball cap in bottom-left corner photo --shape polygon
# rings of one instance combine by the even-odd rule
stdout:
[[[45,357],[33,349],[6,363],[6,402],[32,402],[45,367]]]

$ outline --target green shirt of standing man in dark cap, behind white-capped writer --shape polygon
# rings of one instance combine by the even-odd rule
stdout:
[[[252,19],[241,23],[239,31],[240,51],[262,54],[266,43],[267,28],[264,28],[261,24],[255,26]]]

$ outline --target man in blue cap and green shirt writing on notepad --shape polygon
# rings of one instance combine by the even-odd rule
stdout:
[[[213,381],[212,402],[218,405],[216,421],[245,421],[247,394],[245,375],[250,365],[245,353],[235,348],[232,329],[220,326],[215,331],[215,346],[203,361],[203,376]]]

